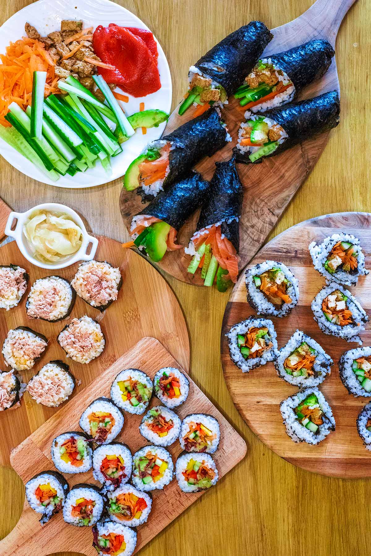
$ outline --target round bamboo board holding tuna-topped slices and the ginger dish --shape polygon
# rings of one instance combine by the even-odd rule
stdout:
[[[70,365],[70,371],[76,378],[76,388],[73,396],[90,384],[98,375],[112,365],[125,351],[145,336],[153,336],[170,351],[174,358],[185,369],[189,369],[190,345],[187,326],[177,299],[166,281],[154,267],[146,260],[130,250],[122,249],[117,241],[104,236],[97,236],[99,240],[96,260],[107,260],[112,265],[120,267],[123,284],[114,301],[108,309],[101,313],[93,309],[80,297],[76,297],[70,317],[59,322],[28,319],[25,304],[30,286],[33,282],[52,272],[32,266],[19,252],[17,244],[12,241],[0,249],[0,265],[10,263],[20,265],[29,274],[29,284],[26,295],[18,307],[10,311],[1,310],[0,342],[3,344],[8,330],[16,326],[29,326],[37,332],[42,332],[49,344],[41,359],[33,369],[21,373],[23,382],[28,382],[41,367],[53,359],[62,359]],[[55,272],[68,280],[75,275],[78,263]],[[102,331],[106,336],[106,347],[102,355],[88,365],[81,365],[66,359],[66,354],[58,345],[56,338],[62,328],[73,317],[91,316],[100,320]],[[0,354],[0,369],[6,370],[4,359]],[[77,385],[81,381],[80,385]],[[8,431],[2,435],[0,444],[0,464],[9,465],[9,453],[41,426],[59,408],[46,408],[38,405],[28,392],[24,393],[21,407],[14,407],[0,413],[0,428]]]

